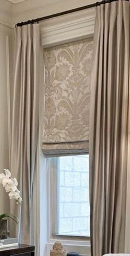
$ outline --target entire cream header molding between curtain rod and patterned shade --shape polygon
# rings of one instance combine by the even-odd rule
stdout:
[[[41,23],[41,42],[45,48],[93,37],[95,8],[65,16]]]

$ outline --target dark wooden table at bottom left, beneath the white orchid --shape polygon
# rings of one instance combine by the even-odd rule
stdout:
[[[35,247],[27,244],[19,244],[12,247],[0,248],[0,256],[34,256]]]

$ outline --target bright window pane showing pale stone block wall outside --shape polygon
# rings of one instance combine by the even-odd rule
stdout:
[[[58,158],[58,234],[90,236],[89,155]]]

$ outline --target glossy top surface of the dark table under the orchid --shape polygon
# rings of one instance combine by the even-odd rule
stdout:
[[[23,252],[33,252],[34,249],[35,249],[34,245],[18,244],[18,245],[15,245],[15,246],[0,248],[0,255],[1,255],[1,252],[6,252],[8,254],[10,254],[10,253],[23,253]]]

